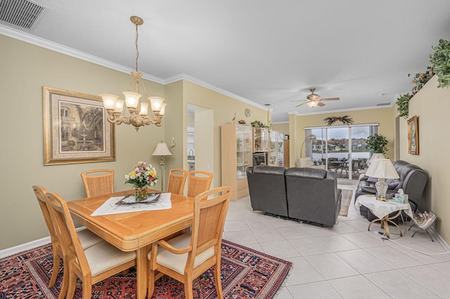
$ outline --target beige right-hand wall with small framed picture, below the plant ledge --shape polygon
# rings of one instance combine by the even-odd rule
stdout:
[[[436,76],[411,98],[409,117],[418,116],[418,155],[408,153],[408,125],[406,119],[400,119],[400,159],[422,167],[430,176],[419,208],[436,213],[436,230],[447,244],[450,244],[450,155],[445,150],[450,147],[449,111],[450,88],[437,88]]]

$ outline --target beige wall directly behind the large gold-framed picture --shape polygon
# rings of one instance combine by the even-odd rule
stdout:
[[[42,86],[99,95],[121,94],[129,87],[130,75],[94,65],[0,35],[0,249],[23,244],[49,234],[32,192],[42,185],[67,200],[85,197],[80,173],[89,169],[115,169],[115,190],[126,190],[124,174],[137,161],[159,168],[152,157],[155,145],[164,140],[164,129],[117,126],[117,161],[44,166]],[[146,81],[152,95],[165,95],[160,84]],[[172,114],[168,101],[167,115]]]

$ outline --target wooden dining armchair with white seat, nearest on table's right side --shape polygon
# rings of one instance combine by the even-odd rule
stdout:
[[[193,298],[193,279],[210,267],[214,267],[217,297],[223,298],[220,278],[221,239],[230,192],[231,187],[226,186],[198,194],[194,201],[192,232],[152,244],[147,255],[150,260],[148,298],[153,295],[155,281],[163,274],[184,283],[186,298]],[[214,198],[208,199],[210,196]]]

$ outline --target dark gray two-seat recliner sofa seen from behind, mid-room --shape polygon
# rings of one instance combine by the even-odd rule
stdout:
[[[341,191],[331,171],[255,166],[247,178],[253,210],[330,227],[338,219]]]

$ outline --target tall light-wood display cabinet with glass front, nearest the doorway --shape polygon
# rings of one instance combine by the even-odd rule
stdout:
[[[231,186],[231,200],[248,196],[247,168],[252,166],[252,127],[221,126],[221,185]]]

